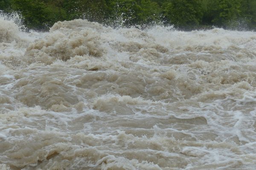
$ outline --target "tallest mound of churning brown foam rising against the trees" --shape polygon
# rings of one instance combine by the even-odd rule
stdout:
[[[76,55],[101,57],[103,48],[99,34],[86,20],[58,22],[52,26],[47,37],[30,44],[25,55],[30,62],[45,64],[51,64],[56,59],[66,61]]]

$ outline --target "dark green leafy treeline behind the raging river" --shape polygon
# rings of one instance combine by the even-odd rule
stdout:
[[[256,29],[256,0],[0,0],[0,10],[17,11],[27,28],[41,30],[78,18],[113,27]]]

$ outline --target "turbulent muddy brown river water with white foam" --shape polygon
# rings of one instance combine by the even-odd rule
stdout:
[[[0,17],[0,169],[255,168],[255,32]]]

